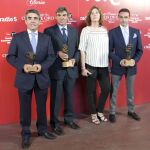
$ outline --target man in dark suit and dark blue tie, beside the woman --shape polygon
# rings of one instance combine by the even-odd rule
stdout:
[[[64,132],[58,120],[62,92],[64,92],[64,123],[73,129],[79,128],[73,121],[73,88],[78,77],[79,50],[77,31],[67,25],[68,12],[65,7],[57,9],[56,20],[57,24],[46,28],[44,33],[51,37],[57,56],[49,70],[51,78],[50,123],[54,133],[62,135]],[[67,52],[64,52],[65,47],[67,47]],[[67,63],[71,65],[62,66],[64,61],[68,61]]]

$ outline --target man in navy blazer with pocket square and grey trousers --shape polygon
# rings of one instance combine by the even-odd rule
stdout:
[[[110,99],[110,122],[115,122],[116,96],[119,82],[123,75],[126,79],[128,116],[135,120],[140,117],[134,112],[133,85],[137,63],[142,56],[142,44],[139,30],[129,27],[130,11],[123,8],[119,11],[120,26],[109,32],[109,49],[112,60],[112,94]]]

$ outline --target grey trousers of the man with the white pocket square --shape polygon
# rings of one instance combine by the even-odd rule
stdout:
[[[111,92],[111,99],[110,99],[110,114],[115,114],[116,112],[116,97],[118,92],[119,83],[122,76],[120,75],[113,75],[112,74],[112,92]],[[135,80],[135,75],[126,75],[126,101],[127,107],[129,112],[134,112],[134,93],[133,93],[133,85]]]

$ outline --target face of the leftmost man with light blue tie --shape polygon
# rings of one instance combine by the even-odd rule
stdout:
[[[40,18],[35,13],[29,13],[25,17],[25,23],[27,25],[27,29],[35,32],[36,30],[38,30],[38,27],[40,25]]]

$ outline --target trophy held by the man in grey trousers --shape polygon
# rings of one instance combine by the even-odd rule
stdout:
[[[125,48],[125,52],[126,52],[125,65],[126,65],[126,67],[134,66],[134,61],[131,59],[131,49],[132,49],[132,44],[128,44],[127,47]]]

